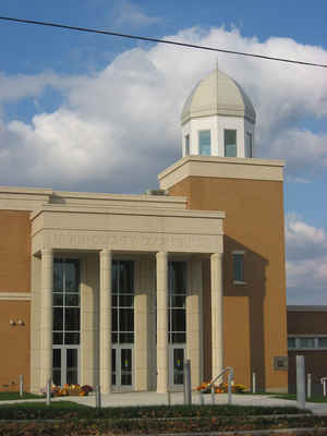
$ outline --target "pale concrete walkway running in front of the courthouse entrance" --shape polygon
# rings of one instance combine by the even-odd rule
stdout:
[[[95,396],[88,397],[60,397],[52,399],[52,401],[69,400],[80,404],[95,407]],[[204,400],[206,404],[211,403],[211,396],[205,395]],[[45,400],[25,400],[26,402],[44,402]],[[4,403],[14,403],[17,401],[0,401],[0,405]],[[20,401],[21,402],[21,401]],[[216,404],[227,404],[227,393],[219,393],[215,396]],[[124,392],[124,393],[108,393],[101,397],[102,407],[121,407],[121,405],[160,405],[168,404],[167,393],[157,392]],[[192,392],[192,403],[199,404],[199,395]],[[296,401],[281,400],[278,398],[270,397],[268,395],[233,395],[232,403],[239,405],[296,405]],[[173,392],[171,393],[171,404],[183,404],[183,393]],[[306,402],[306,409],[311,410],[314,414],[327,415],[327,402],[326,403],[313,403]]]

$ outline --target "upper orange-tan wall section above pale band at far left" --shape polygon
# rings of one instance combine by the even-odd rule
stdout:
[[[0,210],[0,292],[31,292],[28,211]]]

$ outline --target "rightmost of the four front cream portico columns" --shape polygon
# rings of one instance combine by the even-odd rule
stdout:
[[[216,377],[223,368],[223,293],[222,254],[210,256],[211,266],[211,355],[213,374]]]

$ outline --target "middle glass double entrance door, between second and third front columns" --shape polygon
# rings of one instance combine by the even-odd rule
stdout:
[[[114,346],[111,350],[112,389],[132,390],[133,388],[133,346]]]

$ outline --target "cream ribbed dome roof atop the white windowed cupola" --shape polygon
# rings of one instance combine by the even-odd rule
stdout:
[[[204,77],[186,99],[182,124],[192,118],[227,116],[242,117],[255,123],[254,107],[241,86],[218,69]]]

